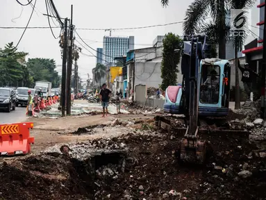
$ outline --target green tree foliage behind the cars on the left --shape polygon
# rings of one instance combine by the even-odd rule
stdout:
[[[35,81],[49,81],[53,87],[58,87],[60,77],[55,71],[56,62],[52,59],[33,58],[26,63],[26,55],[28,53],[17,51],[13,42],[0,50],[0,87],[33,88]]]

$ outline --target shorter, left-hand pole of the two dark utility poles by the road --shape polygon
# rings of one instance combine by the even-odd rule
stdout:
[[[67,74],[67,18],[64,24],[64,44],[63,44],[63,65],[62,65],[62,82],[61,82],[61,111],[65,116],[65,82]]]

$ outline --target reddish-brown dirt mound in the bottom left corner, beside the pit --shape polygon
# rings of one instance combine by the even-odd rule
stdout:
[[[92,197],[69,160],[30,157],[0,169],[0,199],[83,199]]]

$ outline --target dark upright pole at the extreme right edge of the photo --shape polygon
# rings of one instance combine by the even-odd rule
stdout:
[[[266,20],[266,5],[264,6],[264,22]],[[265,118],[265,66],[266,66],[266,26],[263,27],[263,66],[261,67],[261,118]]]

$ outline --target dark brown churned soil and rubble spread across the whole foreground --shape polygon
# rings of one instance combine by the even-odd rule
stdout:
[[[119,138],[56,145],[39,156],[6,160],[0,199],[266,198],[266,158],[248,139],[204,135],[214,150],[208,162],[184,166],[175,157],[181,136],[152,130],[123,129]],[[238,175],[243,170],[249,177]]]

